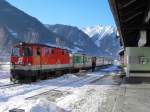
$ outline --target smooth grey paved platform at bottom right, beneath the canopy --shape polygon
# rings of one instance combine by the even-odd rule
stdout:
[[[112,112],[149,112],[150,84],[121,84]]]

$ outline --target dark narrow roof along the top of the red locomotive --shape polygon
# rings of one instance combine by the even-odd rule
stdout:
[[[61,48],[61,47],[56,47],[56,46],[46,45],[46,44],[38,44],[38,43],[19,43],[19,44],[16,44],[14,47],[19,47],[19,46],[40,46],[40,47],[51,47],[51,48],[59,48],[59,49],[63,49],[63,50],[67,50],[67,51],[69,51],[68,49],[64,49],[64,48]]]

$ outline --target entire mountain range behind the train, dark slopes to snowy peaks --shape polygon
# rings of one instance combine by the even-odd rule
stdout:
[[[11,18],[11,19],[10,19]],[[11,48],[19,42],[60,45],[89,55],[113,56],[118,50],[115,28],[44,25],[38,19],[0,0],[0,61],[9,61]]]

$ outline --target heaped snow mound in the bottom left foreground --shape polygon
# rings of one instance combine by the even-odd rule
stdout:
[[[8,112],[9,110],[15,108],[23,109],[25,112],[69,112],[58,107],[55,103],[50,102],[45,98],[39,98],[37,100],[24,100],[21,96],[11,98],[5,105],[1,106],[0,112]]]

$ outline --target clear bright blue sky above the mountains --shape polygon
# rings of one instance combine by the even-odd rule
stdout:
[[[115,25],[108,0],[7,0],[44,24]]]

